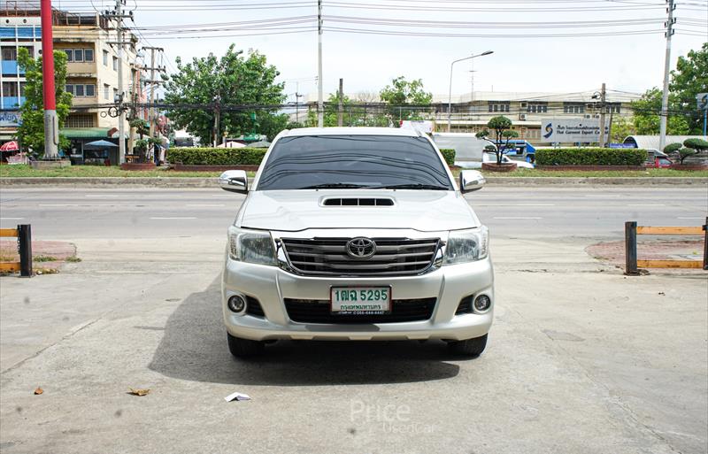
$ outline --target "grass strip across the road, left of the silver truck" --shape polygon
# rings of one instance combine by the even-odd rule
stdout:
[[[176,172],[169,169],[154,170],[120,170],[120,167],[112,165],[105,167],[101,165],[72,165],[70,167],[60,167],[57,169],[36,170],[29,165],[0,165],[0,177],[2,178],[28,178],[28,177],[163,177],[163,178],[216,178],[220,172]],[[256,173],[249,172],[252,177]]]

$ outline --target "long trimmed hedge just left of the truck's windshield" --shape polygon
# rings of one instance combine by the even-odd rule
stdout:
[[[171,148],[167,158],[184,165],[260,165],[265,148]]]

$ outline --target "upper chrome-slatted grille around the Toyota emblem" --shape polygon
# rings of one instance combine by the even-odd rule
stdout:
[[[282,238],[290,265],[311,275],[403,276],[425,271],[435,260],[440,240],[428,238],[372,238],[376,252],[371,258],[347,254],[351,238]]]

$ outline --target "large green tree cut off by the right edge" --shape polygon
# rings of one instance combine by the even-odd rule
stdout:
[[[671,72],[669,90],[673,94],[673,109],[686,112],[688,134],[703,134],[703,115],[696,109],[696,96],[708,89],[708,42],[700,50],[690,50],[686,57],[679,57],[675,71]],[[689,113],[692,112],[692,113]],[[671,119],[671,117],[669,117]]]

